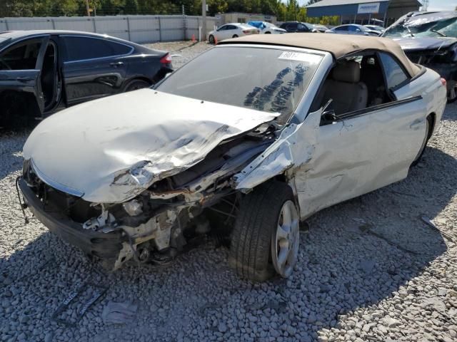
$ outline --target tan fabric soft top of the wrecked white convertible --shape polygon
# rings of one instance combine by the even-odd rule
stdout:
[[[227,39],[219,44],[254,43],[311,48],[328,51],[338,59],[348,53],[362,50],[381,50],[392,53],[406,68],[411,77],[416,76],[421,68],[412,63],[395,41],[389,38],[356,36],[336,33],[284,33],[253,34],[240,38]]]

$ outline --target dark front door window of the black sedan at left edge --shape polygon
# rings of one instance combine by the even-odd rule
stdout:
[[[0,54],[0,70],[31,70],[36,68],[36,60],[42,39],[17,43]]]

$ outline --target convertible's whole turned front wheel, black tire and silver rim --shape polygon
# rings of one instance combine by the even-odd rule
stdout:
[[[271,181],[243,197],[229,255],[238,276],[249,281],[266,281],[275,271],[290,276],[299,244],[299,214],[291,187]]]

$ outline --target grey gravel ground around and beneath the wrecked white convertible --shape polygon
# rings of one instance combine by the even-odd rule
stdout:
[[[211,241],[166,267],[105,274],[36,219],[24,224],[14,180],[26,133],[1,135],[0,341],[457,341],[456,137],[453,104],[406,180],[311,217],[293,276],[252,285]],[[86,281],[106,296],[76,326],[51,319]],[[111,301],[135,304],[134,320],[104,323]]]

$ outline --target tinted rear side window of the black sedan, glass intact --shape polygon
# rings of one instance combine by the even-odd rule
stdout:
[[[105,39],[66,36],[64,40],[67,53],[65,61],[118,56],[131,51],[129,46]]]

